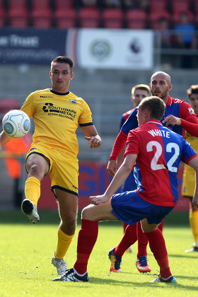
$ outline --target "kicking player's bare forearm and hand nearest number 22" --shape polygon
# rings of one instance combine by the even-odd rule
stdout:
[[[98,135],[95,126],[92,124],[90,126],[81,127],[83,134],[85,134],[85,139],[90,144],[91,148],[98,148],[102,144],[102,139]]]

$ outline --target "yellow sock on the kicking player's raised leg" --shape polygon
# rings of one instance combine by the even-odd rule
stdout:
[[[25,181],[25,198],[37,206],[37,201],[40,198],[40,180],[36,177],[28,177]]]

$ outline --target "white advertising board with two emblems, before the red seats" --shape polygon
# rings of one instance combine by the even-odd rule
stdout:
[[[70,38],[73,35],[71,40],[75,40],[69,57],[75,56],[78,66],[95,69],[153,68],[151,30],[79,29],[74,34],[75,37],[69,34]]]

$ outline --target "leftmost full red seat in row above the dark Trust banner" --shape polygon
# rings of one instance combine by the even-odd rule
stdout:
[[[8,9],[8,23],[12,27],[25,28],[29,25],[29,13],[25,6],[11,6]]]

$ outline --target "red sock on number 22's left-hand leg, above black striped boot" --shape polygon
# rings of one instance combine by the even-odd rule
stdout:
[[[78,233],[77,260],[74,268],[78,274],[87,271],[89,256],[98,237],[98,222],[81,219],[81,230]]]

